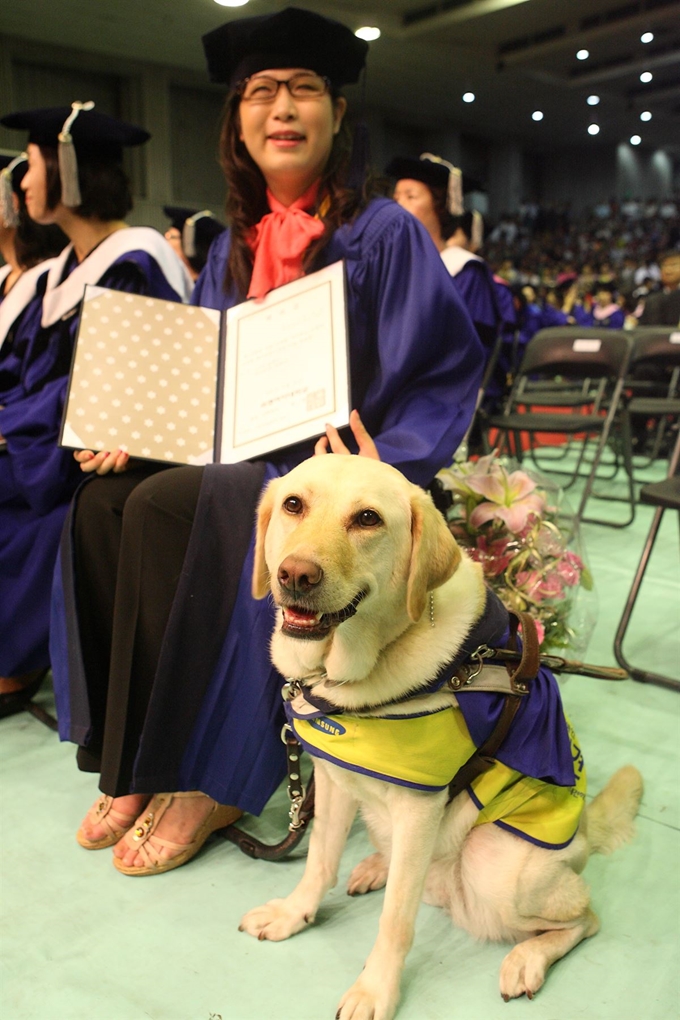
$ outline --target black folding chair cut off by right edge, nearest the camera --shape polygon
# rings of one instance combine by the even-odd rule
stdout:
[[[623,615],[621,617],[621,622],[616,632],[616,638],[614,639],[614,654],[616,656],[617,662],[625,670],[627,670],[634,680],[640,680],[642,683],[656,683],[663,687],[671,687],[673,691],[680,691],[680,679],[675,679],[672,676],[664,676],[660,673],[652,673],[648,669],[641,669],[638,666],[633,666],[628,662],[623,653],[623,642],[626,635],[626,630],[628,629],[628,624],[630,622],[630,617],[633,612],[633,607],[637,599],[638,593],[640,591],[640,585],[642,584],[642,578],[644,577],[644,572],[647,568],[647,563],[649,562],[649,557],[651,556],[651,550],[653,549],[655,542],[657,540],[657,534],[659,533],[659,528],[661,526],[662,517],[664,516],[665,510],[676,510],[678,511],[678,520],[680,522],[680,474],[678,473],[678,462],[680,461],[680,431],[678,432],[678,438],[675,443],[675,448],[673,450],[673,455],[671,457],[671,463],[669,468],[668,477],[664,481],[653,481],[648,486],[643,486],[640,491],[640,503],[646,503],[648,506],[656,507],[655,515],[651,519],[651,525],[647,533],[644,548],[642,550],[642,556],[640,558],[639,565],[635,572],[633,578],[633,583],[630,589],[630,593],[626,600],[626,605],[624,606]]]

